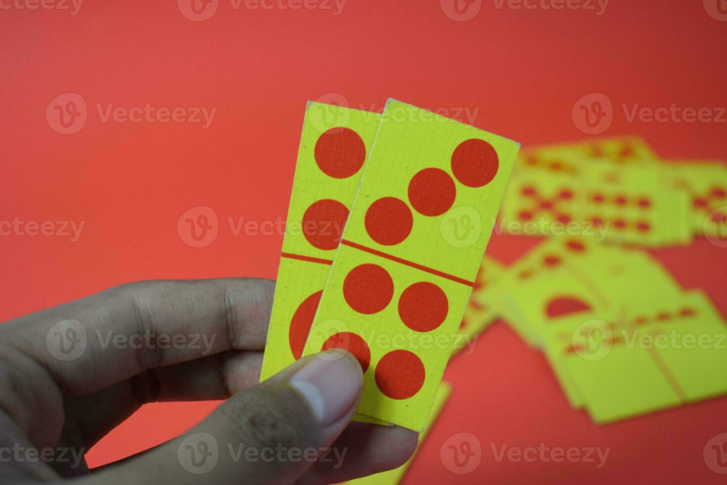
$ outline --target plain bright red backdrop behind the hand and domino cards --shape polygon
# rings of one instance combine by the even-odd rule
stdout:
[[[78,15],[15,7],[0,12],[0,220],[83,220],[79,241],[2,236],[0,319],[147,278],[274,278],[282,237],[233,236],[227,217],[284,219],[305,102],[338,92],[353,107],[387,97],[427,108],[479,108],[475,126],[524,146],[584,139],[571,107],[590,92],[614,103],[604,135],[640,134],[665,158],[726,158],[725,124],[627,122],[621,103],[724,106],[727,23],[701,1],[612,1],[582,9],[497,9],[467,22],[438,0],[348,0],[322,9],[234,10],[220,1],[204,22],[174,1],[86,0]],[[86,126],[60,135],[49,102],[76,92]],[[102,123],[95,104],[216,107],[200,124]],[[220,217],[213,244],[177,234],[190,207]],[[534,239],[495,236],[488,254],[511,262]],[[653,252],[685,288],[702,288],[727,313],[726,249]],[[504,324],[459,356],[454,394],[405,483],[624,481],[718,483],[704,444],[727,431],[726,398],[599,428],[569,409],[545,359]],[[165,441],[215,403],[155,404],[113,431],[91,465]],[[439,459],[454,433],[475,433],[483,462],[454,476]],[[491,445],[611,447],[593,463],[496,462]]]

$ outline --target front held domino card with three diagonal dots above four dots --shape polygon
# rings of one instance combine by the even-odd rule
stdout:
[[[387,103],[305,348],[359,358],[358,412],[425,425],[518,146]]]

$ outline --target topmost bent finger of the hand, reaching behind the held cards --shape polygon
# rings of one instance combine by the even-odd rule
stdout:
[[[273,288],[254,278],[122,285],[1,325],[0,344],[39,361],[66,393],[85,395],[148,369],[262,350]]]

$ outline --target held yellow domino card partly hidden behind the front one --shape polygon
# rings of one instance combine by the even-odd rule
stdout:
[[[379,119],[308,103],[261,380],[301,356]]]

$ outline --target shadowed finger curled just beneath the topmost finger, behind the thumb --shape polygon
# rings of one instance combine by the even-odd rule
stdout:
[[[157,367],[65,401],[65,434],[76,447],[95,445],[142,405],[162,401],[216,401],[260,382],[262,352],[226,352]],[[73,434],[79,433],[79,434]]]

